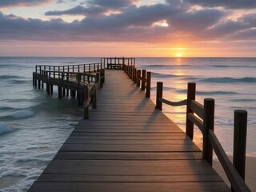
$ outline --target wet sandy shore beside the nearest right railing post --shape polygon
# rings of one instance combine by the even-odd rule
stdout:
[[[229,156],[232,162],[232,156]],[[226,174],[222,168],[218,158],[214,158],[213,161],[214,170],[221,176],[221,178],[230,186],[230,182],[226,177]],[[256,157],[246,156],[246,184],[249,186],[251,191],[256,191]]]

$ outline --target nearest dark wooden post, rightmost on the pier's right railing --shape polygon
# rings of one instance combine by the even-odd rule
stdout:
[[[243,180],[245,180],[246,174],[246,132],[247,111],[234,110],[233,164]]]

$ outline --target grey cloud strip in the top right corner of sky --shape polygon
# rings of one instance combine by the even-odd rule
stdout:
[[[205,7],[225,7],[227,9],[254,9],[256,8],[255,0],[183,0],[193,5]]]

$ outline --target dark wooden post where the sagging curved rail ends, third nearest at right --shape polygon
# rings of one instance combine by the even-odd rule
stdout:
[[[186,103],[186,134],[193,140],[194,136],[194,123],[190,121],[188,115],[194,114],[194,111],[190,109],[191,100],[195,99],[195,82],[189,82],[187,84],[187,103]]]

